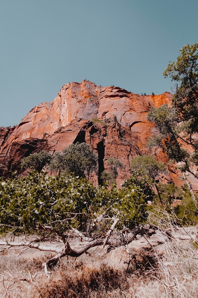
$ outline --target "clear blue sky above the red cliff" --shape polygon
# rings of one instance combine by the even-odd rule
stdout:
[[[170,91],[163,71],[196,42],[198,0],[0,0],[0,126],[72,81]]]

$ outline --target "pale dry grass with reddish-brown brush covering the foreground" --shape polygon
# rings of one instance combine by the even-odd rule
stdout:
[[[188,232],[193,235],[195,229]],[[139,237],[129,245],[130,254],[125,247],[110,253],[95,248],[76,260],[64,258],[50,279],[42,263],[51,254],[5,250],[0,253],[0,298],[198,298],[198,250],[181,240],[186,237],[181,229],[175,236],[171,242],[160,232]]]

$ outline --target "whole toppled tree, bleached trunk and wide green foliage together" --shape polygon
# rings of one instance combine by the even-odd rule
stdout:
[[[37,231],[36,240],[5,239],[0,246],[54,252],[43,264],[49,276],[48,267],[64,256],[78,257],[95,246],[107,245],[110,251],[128,245],[137,234],[149,236],[156,227],[144,225],[148,215],[145,182],[135,174],[121,189],[109,190],[106,185],[94,187],[83,177],[48,176],[35,170],[25,177],[0,178],[0,230]],[[51,236],[58,237],[62,247],[43,246],[42,240]],[[71,247],[73,236],[81,237],[83,246]]]

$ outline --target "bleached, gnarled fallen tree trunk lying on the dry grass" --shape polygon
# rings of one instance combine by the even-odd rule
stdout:
[[[65,257],[65,256],[79,257],[90,248],[96,247],[96,246],[108,246],[108,251],[110,251],[112,249],[115,249],[116,247],[129,244],[131,241],[134,240],[134,238],[138,234],[150,236],[154,234],[157,229],[159,229],[157,226],[153,224],[146,224],[146,225],[137,226],[132,231],[124,231],[124,232],[122,231],[120,233],[114,233],[112,235],[113,229],[117,224],[117,222],[118,222],[118,219],[114,219],[114,222],[111,225],[108,232],[106,234],[100,235],[98,238],[95,238],[95,239],[92,237],[87,237],[85,233],[79,232],[77,229],[72,229],[69,231],[69,233],[67,233],[66,235],[63,235],[63,234],[60,234],[60,232],[55,231],[50,226],[40,225],[39,227],[40,229],[51,231],[51,233],[56,232],[56,234],[60,237],[60,239],[64,243],[64,246],[62,248],[57,248],[53,246],[44,246],[38,243],[34,243],[34,241],[0,241],[0,246],[1,247],[4,246],[4,249],[22,246],[23,248],[29,247],[29,248],[42,250],[42,251],[54,252],[56,255],[50,258],[49,260],[47,260],[43,264],[43,266],[45,267],[46,274],[48,275],[47,267],[56,265],[57,262],[62,257]],[[164,231],[164,233],[169,238],[172,237],[172,235],[170,233],[167,233],[167,231]],[[69,237],[71,235],[81,237],[87,243],[82,247],[77,247],[77,248],[71,247],[69,243]],[[38,242],[38,239],[36,241]]]

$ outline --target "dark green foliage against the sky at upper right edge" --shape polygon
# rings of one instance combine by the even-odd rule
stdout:
[[[173,107],[188,121],[190,131],[198,132],[198,43],[184,46],[163,75],[174,82]]]

